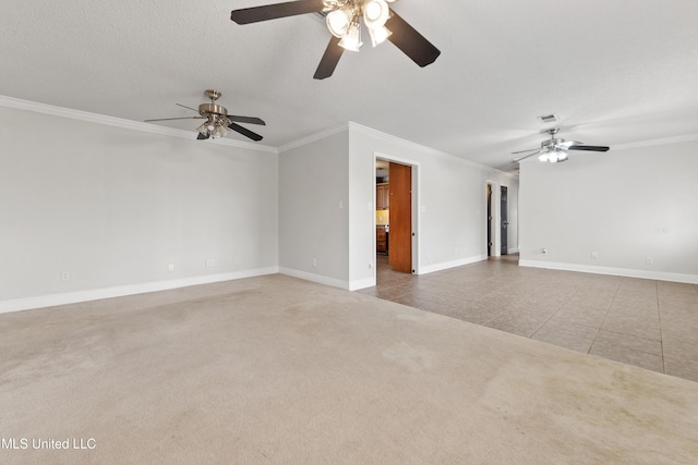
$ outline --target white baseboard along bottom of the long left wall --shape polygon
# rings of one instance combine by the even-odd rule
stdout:
[[[278,267],[256,268],[252,270],[234,271],[202,277],[182,278],[166,281],[153,281],[139,284],[119,285],[115,287],[92,289],[87,291],[67,292],[61,294],[41,295],[37,297],[16,298],[0,302],[0,314],[29,310],[33,308],[53,307],[57,305],[77,304],[80,302],[98,301],[101,298],[122,297],[125,295],[144,294],[146,292],[168,291],[190,285],[209,284],[221,281],[233,281],[243,278],[254,278],[278,273]]]

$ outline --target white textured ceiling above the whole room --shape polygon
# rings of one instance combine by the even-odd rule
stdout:
[[[229,112],[267,122],[248,125],[265,145],[352,121],[505,171],[509,152],[546,137],[541,114],[562,120],[563,138],[612,150],[698,133],[696,0],[400,0],[436,62],[366,44],[324,81],[312,78],[329,39],[317,15],[230,21],[275,1],[0,2],[0,95],[52,106],[186,117],[176,102],[216,88]]]

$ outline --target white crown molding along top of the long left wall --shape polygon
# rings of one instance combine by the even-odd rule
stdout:
[[[0,107],[15,108],[19,110],[33,111],[35,113],[44,113],[52,117],[69,118],[71,120],[86,121],[89,123],[104,124],[107,126],[121,127],[133,131],[142,131],[152,134],[159,134],[171,137],[181,137],[185,139],[195,139],[195,131],[177,130],[173,127],[160,126],[158,124],[145,123],[141,121],[124,120],[121,118],[107,117],[105,114],[89,113],[87,111],[73,110],[70,108],[55,107],[46,103],[38,103],[29,100],[21,100],[19,98],[0,96]],[[219,138],[206,140],[205,144],[227,145],[239,148],[246,148],[257,151],[266,151],[269,154],[278,154],[276,147],[249,143],[245,140],[236,140],[230,138]]]

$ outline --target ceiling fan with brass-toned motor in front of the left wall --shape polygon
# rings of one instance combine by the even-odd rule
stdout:
[[[264,121],[254,117],[236,117],[233,114],[228,114],[228,110],[225,107],[221,107],[216,103],[216,100],[220,98],[222,95],[218,90],[208,89],[204,91],[204,95],[210,99],[210,103],[202,103],[198,106],[198,109],[186,107],[185,105],[174,103],[179,107],[183,107],[190,110],[194,110],[198,112],[198,117],[184,117],[184,118],[160,118],[157,120],[145,120],[146,123],[153,121],[172,121],[172,120],[206,120],[202,123],[201,126],[196,127],[198,131],[197,139],[203,140],[207,138],[220,138],[225,137],[232,130],[237,133],[242,134],[245,137],[251,138],[252,140],[262,140],[262,136],[253,133],[246,127],[242,127],[238,123],[249,123],[249,124],[262,124],[266,125]]]

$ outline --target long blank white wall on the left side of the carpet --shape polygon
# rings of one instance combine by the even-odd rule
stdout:
[[[0,310],[277,269],[269,150],[0,107]]]

